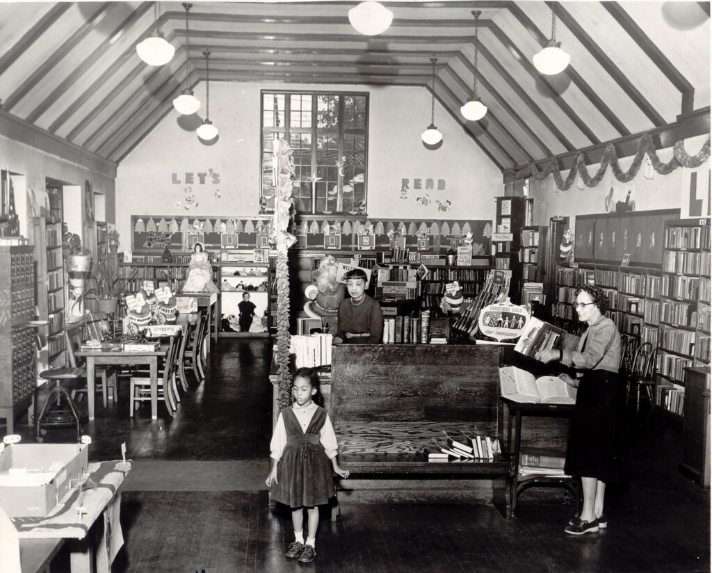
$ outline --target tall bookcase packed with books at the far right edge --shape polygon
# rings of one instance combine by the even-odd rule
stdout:
[[[681,415],[685,369],[710,364],[709,219],[666,221],[659,291],[656,406]]]

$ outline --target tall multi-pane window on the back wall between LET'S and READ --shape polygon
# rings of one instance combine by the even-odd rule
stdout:
[[[261,209],[274,209],[275,139],[292,148],[299,213],[365,214],[368,96],[262,92]]]

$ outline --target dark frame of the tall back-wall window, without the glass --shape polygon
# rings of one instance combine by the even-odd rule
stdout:
[[[285,125],[280,127],[265,127],[264,125],[264,114],[265,114],[265,95],[284,95],[285,107],[284,107],[284,122]],[[305,130],[303,127],[291,127],[290,126],[290,100],[292,95],[310,95],[312,98],[311,102],[311,128],[310,130]],[[363,200],[366,203],[366,209],[358,214],[358,216],[367,216],[368,209],[368,137],[369,137],[369,119],[370,119],[370,93],[368,92],[356,92],[356,91],[341,91],[341,90],[260,90],[260,186],[259,186],[259,205],[261,214],[271,214],[274,212],[273,207],[268,208],[266,206],[266,201],[264,200],[264,190],[265,190],[265,170],[264,170],[264,156],[265,156],[265,142],[266,135],[268,133],[284,132],[284,139],[289,142],[290,135],[293,133],[310,133],[312,141],[311,149],[311,172],[316,174],[317,172],[317,141],[318,135],[330,134],[332,135],[333,128],[320,128],[318,127],[318,98],[323,95],[337,95],[340,96],[339,100],[339,120],[337,121],[336,135],[337,135],[337,145],[338,152],[337,157],[343,157],[343,149],[345,136],[349,133],[363,133],[364,136],[364,157],[363,157]],[[354,127],[345,127],[345,117],[344,117],[344,98],[348,96],[359,96],[365,98],[365,127],[363,130]],[[318,201],[317,201],[318,203]],[[327,215],[337,215],[337,216],[352,216],[349,211],[333,211],[331,213],[326,213],[325,211],[317,211],[315,205],[312,206],[310,211],[297,211],[300,215],[315,215],[315,216],[327,216]]]

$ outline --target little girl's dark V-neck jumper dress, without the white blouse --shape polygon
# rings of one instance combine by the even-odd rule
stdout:
[[[277,483],[272,498],[291,508],[311,508],[329,503],[336,490],[331,462],[320,443],[326,410],[317,406],[304,432],[290,407],[283,408],[281,414],[287,444],[277,466]]]

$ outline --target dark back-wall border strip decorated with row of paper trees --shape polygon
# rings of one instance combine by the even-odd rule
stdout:
[[[267,248],[272,219],[266,217],[132,215],[132,251],[189,251],[201,240],[206,249]],[[294,248],[304,250],[387,250],[392,236],[400,246],[439,251],[472,239],[473,255],[491,253],[492,223],[479,219],[357,219],[297,216]]]

